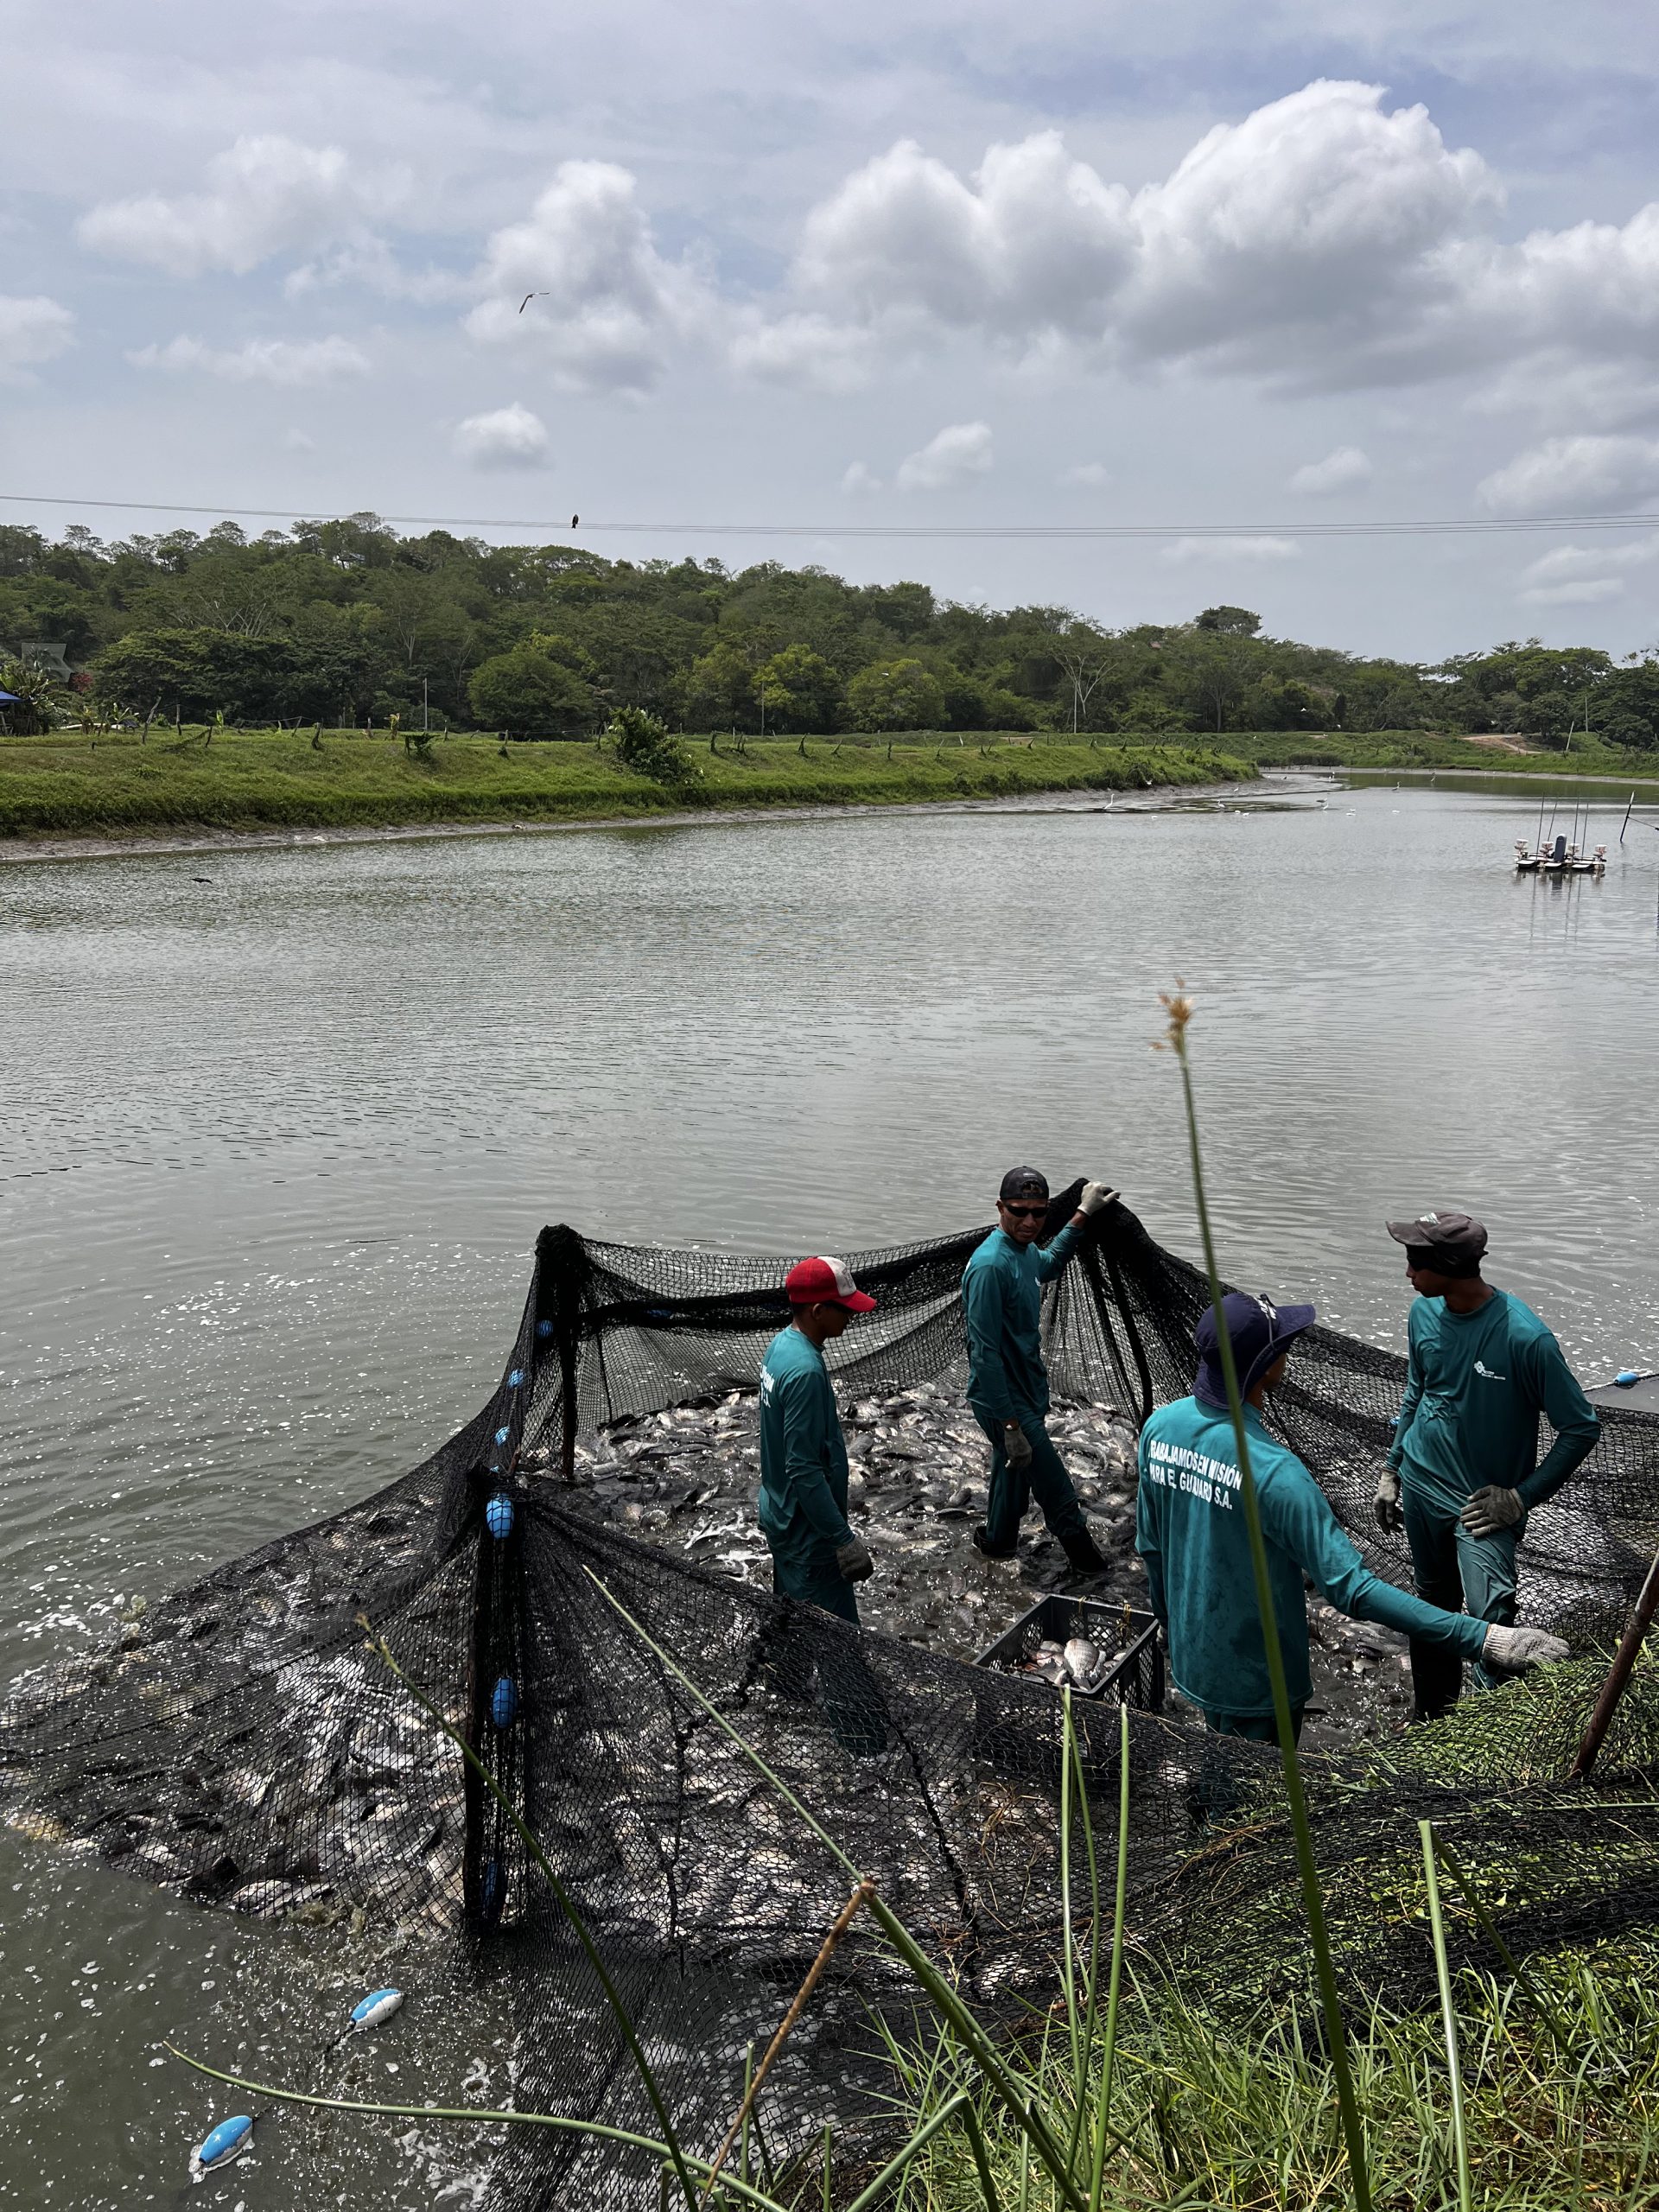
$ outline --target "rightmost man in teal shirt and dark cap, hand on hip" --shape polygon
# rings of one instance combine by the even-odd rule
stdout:
[[[1407,1374],[1376,1520],[1405,1528],[1418,1593],[1480,1621],[1515,1619],[1515,1546],[1531,1506],[1553,1498],[1595,1451],[1601,1425],[1562,1347],[1520,1298],[1482,1281],[1486,1230],[1458,1212],[1389,1221],[1416,1303]],[[1555,1442],[1540,1462],[1537,1416]],[[1475,1668],[1475,1688],[1493,1674]],[[1420,1721],[1458,1703],[1462,1666],[1411,1646]]]

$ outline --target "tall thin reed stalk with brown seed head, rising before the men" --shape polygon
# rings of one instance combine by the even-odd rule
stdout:
[[[1188,1137],[1188,1161],[1192,1170],[1192,1197],[1199,1210],[1199,1234],[1203,1239],[1203,1270],[1210,1279],[1210,1310],[1217,1325],[1217,1347],[1221,1354],[1221,1376],[1228,1387],[1228,1413],[1232,1416],[1232,1436],[1239,1449],[1239,1495],[1243,1500],[1245,1528],[1250,1535],[1250,1568],[1256,1582],[1256,1610],[1261,1613],[1261,1641],[1267,1655],[1267,1677],[1274,1690],[1274,1723],[1279,1728],[1279,1756],[1285,1767],[1285,1798],[1290,1803],[1290,1827],[1296,1838],[1296,1874],[1303,1889],[1303,1909],[1307,1913],[1307,1933],[1314,1942],[1314,1971],[1318,1978],[1318,1997],[1325,2013],[1325,2042],[1332,2057],[1332,2075],[1336,2079],[1336,2106],[1343,2121],[1343,2139],[1347,2141],[1347,2166],[1354,2181],[1354,2205],[1356,2212],[1371,2212],[1371,2172],[1365,2154],[1365,2121],[1360,2117],[1358,2097],[1354,2095],[1354,2073],[1347,2062],[1347,2033],[1343,2024],[1343,2002],[1336,1993],[1336,1969],[1332,1964],[1332,1942],[1325,1927],[1325,1898],[1318,1885],[1318,1865],[1314,1863],[1314,1834],[1307,1825],[1307,1801],[1303,1796],[1303,1776],[1296,1761],[1296,1730],[1290,1717],[1290,1686],[1285,1681],[1285,1652],[1279,1641],[1279,1619],[1274,1615],[1272,1582],[1267,1575],[1267,1542],[1261,1531],[1261,1504],[1256,1500],[1256,1480],[1250,1471],[1250,1433],[1245,1427],[1245,1407],[1239,1391],[1239,1371],[1232,1358],[1232,1338],[1228,1336],[1225,1318],[1221,1314],[1221,1270],[1214,1256],[1214,1237],[1210,1232],[1210,1208],[1203,1188],[1203,1150],[1199,1146],[1199,1108],[1192,1095],[1192,1062],[1188,1057],[1188,1024],[1192,1020],[1192,1000],[1186,995],[1186,984],[1177,978],[1175,991],[1159,993],[1164,1009],[1168,1013],[1168,1026],[1161,1044],[1175,1053],[1177,1066],[1181,1068],[1181,1104],[1186,1108],[1186,1137]]]

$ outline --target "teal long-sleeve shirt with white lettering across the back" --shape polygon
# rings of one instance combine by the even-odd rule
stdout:
[[[1245,1429],[1292,1705],[1305,1705],[1312,1692],[1303,1575],[1356,1621],[1480,1657],[1486,1621],[1442,1613],[1374,1575],[1321,1486],[1254,1407],[1245,1407]],[[1201,1398],[1159,1407],[1141,1429],[1135,1548],[1164,1621],[1175,1686],[1217,1712],[1272,1712],[1232,1420]]]

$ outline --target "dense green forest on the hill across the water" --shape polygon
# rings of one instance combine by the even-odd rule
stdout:
[[[49,648],[58,648],[55,653]],[[62,655],[62,666],[60,666]],[[1113,630],[825,568],[604,560],[376,515],[104,544],[0,526],[0,688],[40,726],[387,723],[573,737],[619,706],[684,730],[1575,730],[1659,748],[1659,657],[1537,639],[1438,666],[1263,637],[1241,606]],[[9,675],[4,672],[9,670]],[[80,692],[80,701],[77,695]]]

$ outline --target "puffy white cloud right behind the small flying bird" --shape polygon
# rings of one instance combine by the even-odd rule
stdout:
[[[699,270],[657,252],[613,161],[562,161],[524,221],[493,232],[478,288],[467,334],[544,358],[573,392],[648,392],[719,312]]]

